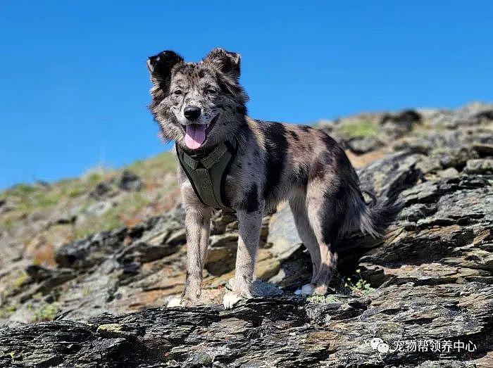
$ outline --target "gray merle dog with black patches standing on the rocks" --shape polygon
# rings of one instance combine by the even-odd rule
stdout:
[[[289,202],[311,255],[313,272],[310,284],[301,288],[304,294],[327,293],[344,234],[356,229],[381,236],[389,212],[376,198],[366,203],[354,167],[329,135],[307,125],[249,118],[248,96],[239,84],[240,61],[238,53],[220,48],[197,63],[187,63],[173,51],[147,61],[149,110],[163,137],[175,141],[179,161],[187,232],[187,277],[180,305],[199,302],[215,207],[232,208],[239,221],[235,277],[223,298],[226,309],[252,298],[263,213],[281,201]],[[210,164],[219,156],[223,160],[225,153],[227,163],[211,174],[216,169]]]

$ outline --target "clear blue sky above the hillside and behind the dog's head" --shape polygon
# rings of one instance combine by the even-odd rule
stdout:
[[[0,188],[165,150],[145,67],[163,49],[237,51],[251,116],[311,122],[493,101],[492,19],[492,1],[2,1]]]

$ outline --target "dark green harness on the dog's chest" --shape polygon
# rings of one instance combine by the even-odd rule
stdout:
[[[213,208],[230,208],[225,201],[225,179],[237,153],[236,139],[218,144],[208,154],[190,155],[176,144],[176,153],[200,201]]]

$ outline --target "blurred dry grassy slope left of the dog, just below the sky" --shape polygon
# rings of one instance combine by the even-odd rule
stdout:
[[[142,179],[141,191],[122,191],[118,180],[123,170]],[[120,170],[96,167],[79,178],[51,184],[18,184],[0,193],[10,210],[0,213],[0,227],[30,248],[35,262],[54,264],[53,253],[64,241],[80,239],[97,231],[134,226],[151,216],[170,210],[178,198],[175,158],[169,152]],[[101,182],[111,186],[114,196],[101,199],[89,195]],[[88,212],[98,203],[111,203],[102,212]],[[64,213],[66,215],[63,217]],[[74,215],[77,220],[72,222]],[[64,218],[62,223],[56,219]],[[37,222],[54,219],[48,227],[33,231]],[[58,236],[56,236],[58,234]],[[49,236],[48,236],[49,235]]]

